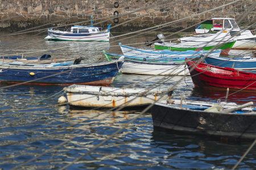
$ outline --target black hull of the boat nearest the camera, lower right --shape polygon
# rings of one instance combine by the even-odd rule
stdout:
[[[256,138],[255,114],[193,111],[163,104],[154,104],[151,114],[154,128],[218,138]]]

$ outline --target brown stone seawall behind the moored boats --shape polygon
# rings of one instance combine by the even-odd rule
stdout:
[[[255,23],[256,10],[255,6],[251,7],[254,0],[232,2],[234,0],[2,0],[0,30],[42,29],[75,23],[89,25],[90,16],[94,25],[105,28],[112,24],[115,32],[137,31],[160,24],[166,25],[156,29],[192,31],[200,19],[213,17],[230,17],[237,21],[243,18],[240,25]]]

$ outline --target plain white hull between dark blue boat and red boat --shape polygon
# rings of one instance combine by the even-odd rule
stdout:
[[[189,71],[185,63],[159,63],[159,62],[139,62],[125,60],[122,66],[124,74],[144,74],[144,75],[187,75]]]

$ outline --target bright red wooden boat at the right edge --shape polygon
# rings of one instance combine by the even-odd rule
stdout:
[[[256,90],[256,74],[187,61],[195,87],[218,87],[235,90]]]

